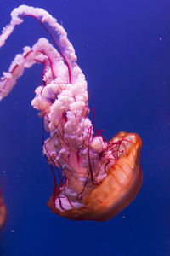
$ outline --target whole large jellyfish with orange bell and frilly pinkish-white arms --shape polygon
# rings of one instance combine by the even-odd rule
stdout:
[[[105,221],[133,201],[142,184],[141,139],[121,131],[111,141],[88,118],[87,81],[67,33],[44,9],[20,5],[3,28],[0,47],[27,16],[48,32],[53,44],[40,38],[16,55],[0,80],[0,100],[8,96],[25,68],[42,64],[42,84],[31,101],[49,137],[42,153],[54,175],[48,201],[51,211],[72,220]]]

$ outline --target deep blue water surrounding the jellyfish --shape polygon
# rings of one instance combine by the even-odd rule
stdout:
[[[42,156],[42,120],[31,108],[42,75],[26,70],[0,102],[0,174],[8,221],[1,256],[170,255],[170,2],[167,0],[0,1],[0,26],[20,4],[42,7],[62,22],[88,81],[95,126],[142,138],[144,183],[136,199],[104,223],[76,222],[50,212],[54,180]],[[37,38],[26,18],[0,49],[0,72]],[[124,218],[125,217],[125,218]]]

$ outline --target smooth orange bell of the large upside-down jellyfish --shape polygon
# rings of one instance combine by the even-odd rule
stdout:
[[[135,133],[119,132],[109,144],[115,151],[112,154],[121,155],[117,155],[115,164],[109,168],[101,183],[83,196],[83,206],[59,211],[55,206],[57,195],[55,198],[52,195],[48,201],[52,212],[74,220],[104,221],[113,218],[133,201],[143,181],[139,165],[141,139]]]

